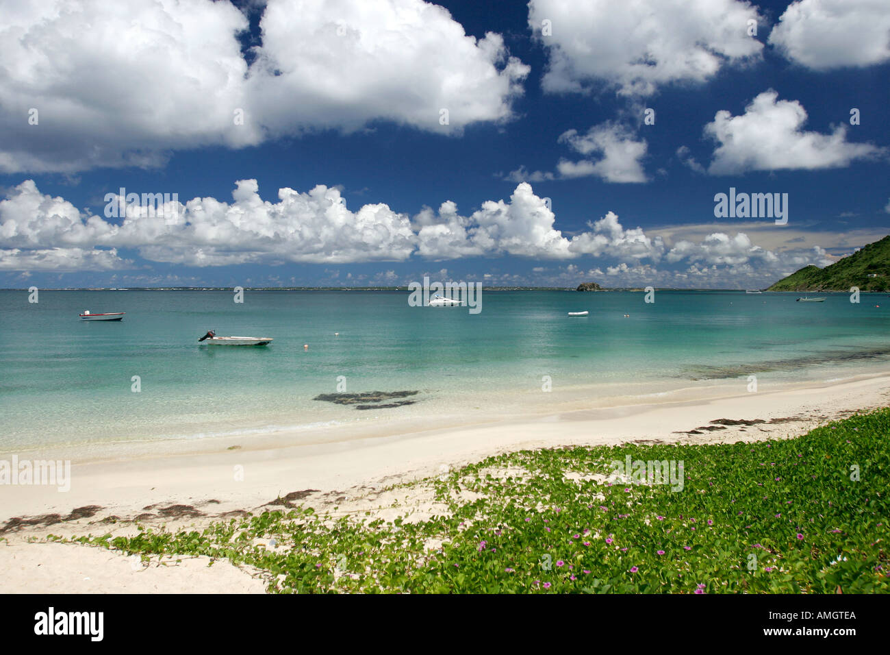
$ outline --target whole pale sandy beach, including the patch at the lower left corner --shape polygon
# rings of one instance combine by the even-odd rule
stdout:
[[[382,487],[425,478],[490,454],[523,448],[623,442],[725,443],[797,436],[857,410],[890,404],[890,374],[806,388],[518,417],[312,446],[231,444],[200,454],[74,460],[71,487],[0,487],[4,592],[262,592],[248,570],[200,558],[135,565],[76,544],[29,543],[46,535],[134,532],[142,525],[206,525],[284,498],[349,511],[381,503]],[[740,422],[736,424],[737,422]],[[4,455],[5,456],[5,455]],[[369,503],[369,498],[373,502]],[[414,509],[425,513],[423,499]],[[279,501],[280,504],[280,501]],[[271,508],[270,508],[271,509]],[[280,507],[279,507],[280,509]]]

